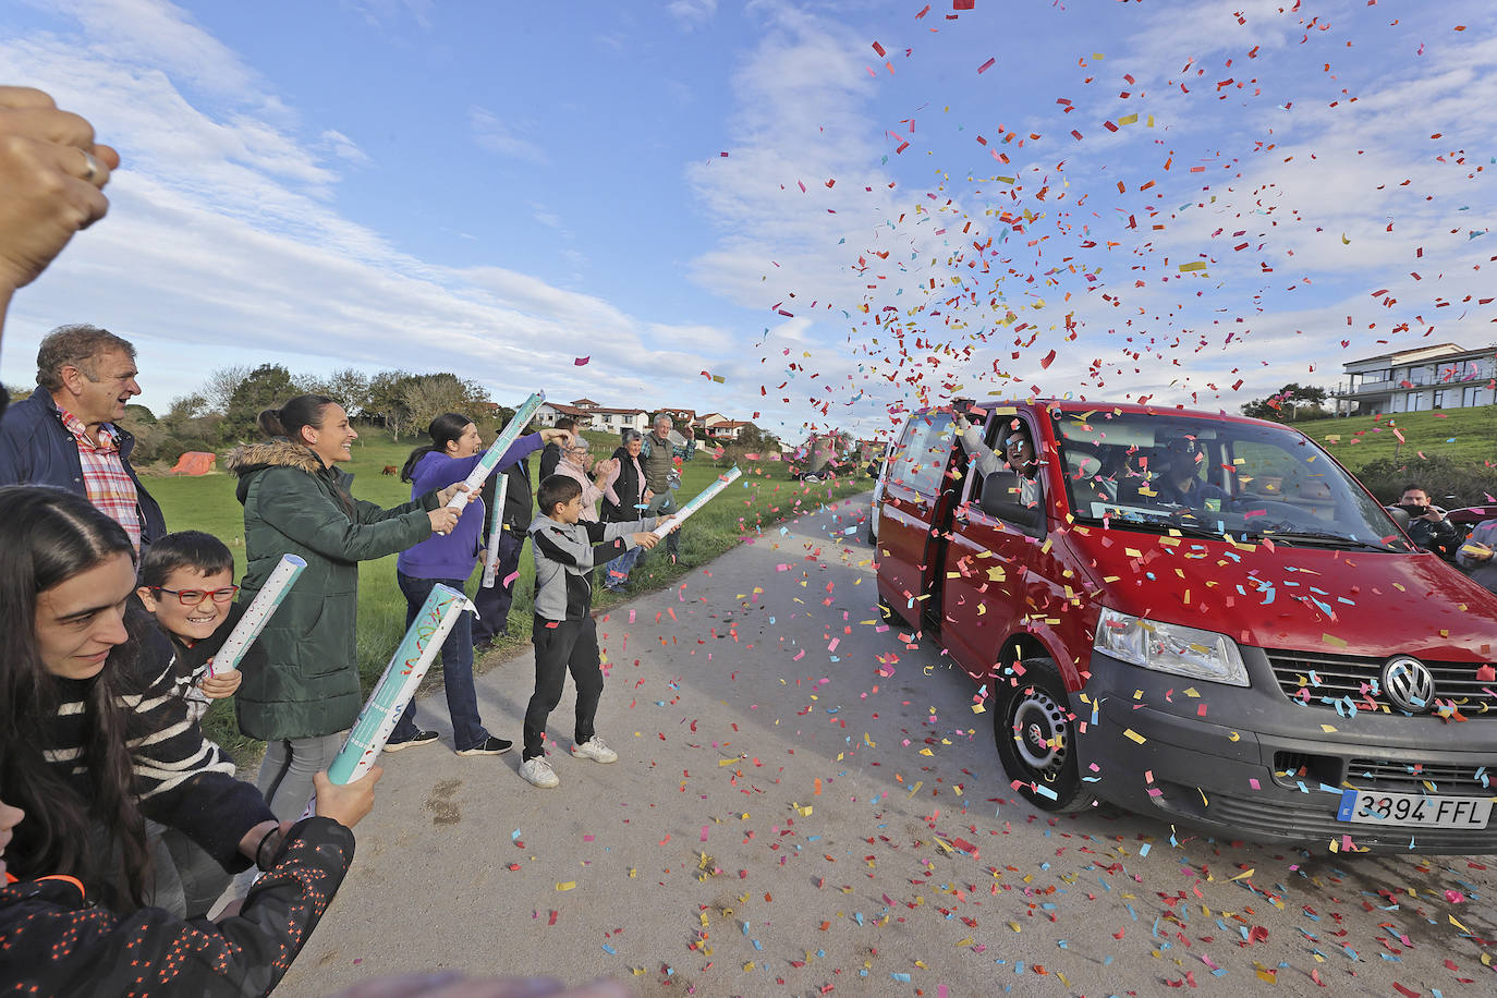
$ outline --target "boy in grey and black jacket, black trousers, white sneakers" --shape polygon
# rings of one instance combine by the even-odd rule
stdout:
[[[576,682],[576,729],[572,754],[611,763],[618,753],[594,730],[597,702],[603,694],[603,670],[597,651],[597,624],[590,616],[594,564],[605,564],[633,548],[648,551],[659,543],[653,533],[657,518],[620,522],[581,522],[582,486],[576,479],[552,474],[536,489],[540,515],[530,524],[536,558],[536,691],[525,708],[524,757],[519,775],[537,787],[561,781],[545,757],[546,717],[561,702],[566,673]],[[597,545],[597,551],[594,551]]]

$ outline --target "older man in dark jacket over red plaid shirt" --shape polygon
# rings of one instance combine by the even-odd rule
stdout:
[[[0,485],[52,485],[118,521],[136,548],[166,533],[114,420],[141,394],[135,347],[108,329],[58,326],[36,353],[36,392],[0,417]]]

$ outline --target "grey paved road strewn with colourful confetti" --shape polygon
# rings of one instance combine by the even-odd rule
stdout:
[[[1172,844],[1021,802],[978,687],[879,622],[865,518],[844,500],[600,616],[615,765],[567,753],[570,682],[557,790],[518,748],[386,756],[280,994],[430,968],[644,995],[1491,994],[1491,857]],[[479,679],[499,735],[533,661]],[[421,709],[448,739],[440,697]]]

